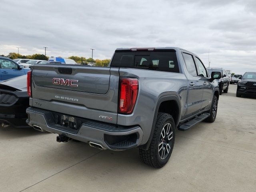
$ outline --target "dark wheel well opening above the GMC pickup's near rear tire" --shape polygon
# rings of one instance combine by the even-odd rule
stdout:
[[[162,102],[159,106],[158,112],[170,114],[174,119],[175,126],[177,126],[180,110],[176,101],[168,100]]]

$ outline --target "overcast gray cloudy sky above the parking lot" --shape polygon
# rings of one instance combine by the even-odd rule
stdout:
[[[256,0],[1,0],[0,54],[111,58],[178,46],[208,66],[256,71]]]

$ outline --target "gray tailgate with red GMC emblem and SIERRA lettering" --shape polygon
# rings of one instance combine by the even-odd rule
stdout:
[[[118,68],[36,64],[31,69],[31,106],[116,123]]]

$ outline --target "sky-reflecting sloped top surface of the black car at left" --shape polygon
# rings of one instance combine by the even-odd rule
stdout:
[[[27,91],[27,75],[22,75],[0,82],[0,89]]]

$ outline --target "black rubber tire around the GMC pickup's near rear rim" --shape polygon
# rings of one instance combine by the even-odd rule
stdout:
[[[165,128],[165,126],[169,125],[169,124],[170,124],[170,128],[172,131],[172,141],[170,140],[171,144],[170,144],[170,150],[169,150],[168,154],[166,154],[166,157],[164,159],[162,159],[160,157],[160,152],[159,152],[160,141],[162,141],[161,133],[162,133],[162,130]],[[166,134],[166,136],[167,136],[167,134]],[[175,123],[174,123],[172,116],[167,113],[159,112],[157,115],[157,118],[156,118],[154,134],[153,134],[153,137],[152,137],[152,140],[151,140],[148,150],[143,150],[143,149],[139,150],[141,160],[145,164],[147,164],[149,166],[153,166],[155,168],[163,167],[168,162],[168,160],[172,154],[174,140],[175,140]],[[163,144],[163,146],[164,146],[164,144]],[[167,149],[167,147],[166,147],[166,149]]]

